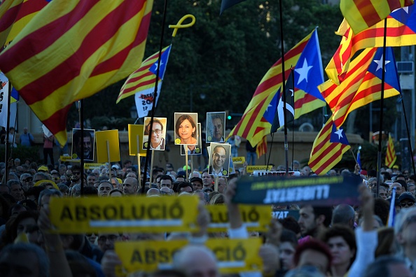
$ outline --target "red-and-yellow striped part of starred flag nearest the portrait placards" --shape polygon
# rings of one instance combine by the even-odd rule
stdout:
[[[315,31],[315,30],[314,30]],[[298,44],[296,44],[289,52],[284,55],[284,68],[286,80],[291,73],[291,66],[296,66],[298,59],[302,54],[305,46],[310,41],[312,31],[309,35],[303,38]],[[286,82],[286,80],[284,80]],[[268,108],[270,101],[282,86],[282,59],[279,59],[273,66],[265,73],[262,78],[256,92],[254,92],[249,106],[242,115],[240,122],[230,132],[229,136],[241,136],[244,139],[250,141],[251,145],[258,145],[263,141],[264,136],[270,134],[270,128],[272,124],[264,118],[266,108]],[[303,90],[295,90],[295,119],[300,115],[309,113],[316,108],[325,106],[325,102],[313,97],[311,94],[306,93]],[[263,147],[263,145],[261,145]],[[266,148],[267,149],[267,148]]]

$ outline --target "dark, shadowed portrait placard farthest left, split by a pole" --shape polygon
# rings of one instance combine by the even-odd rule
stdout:
[[[84,145],[83,157],[85,161],[94,160],[95,129],[84,129],[83,137],[81,129],[72,129],[72,159],[81,159],[81,144]]]

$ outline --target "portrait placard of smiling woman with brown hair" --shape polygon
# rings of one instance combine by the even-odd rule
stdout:
[[[197,145],[197,113],[175,113],[175,145]]]

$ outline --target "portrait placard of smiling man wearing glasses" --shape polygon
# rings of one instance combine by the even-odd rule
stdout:
[[[165,150],[166,122],[166,118],[153,118],[153,126],[151,127],[151,118],[144,118],[142,149],[147,149],[148,139],[151,136],[150,149],[158,151]]]

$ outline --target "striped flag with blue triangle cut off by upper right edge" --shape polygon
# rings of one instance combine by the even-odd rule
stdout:
[[[386,46],[406,46],[416,44],[416,8],[415,5],[398,8],[387,16]],[[346,20],[342,21],[338,31],[342,36],[340,47],[326,66],[326,75],[339,85],[345,78],[349,59],[356,51],[364,48],[383,47],[384,21],[373,27],[353,34]]]

